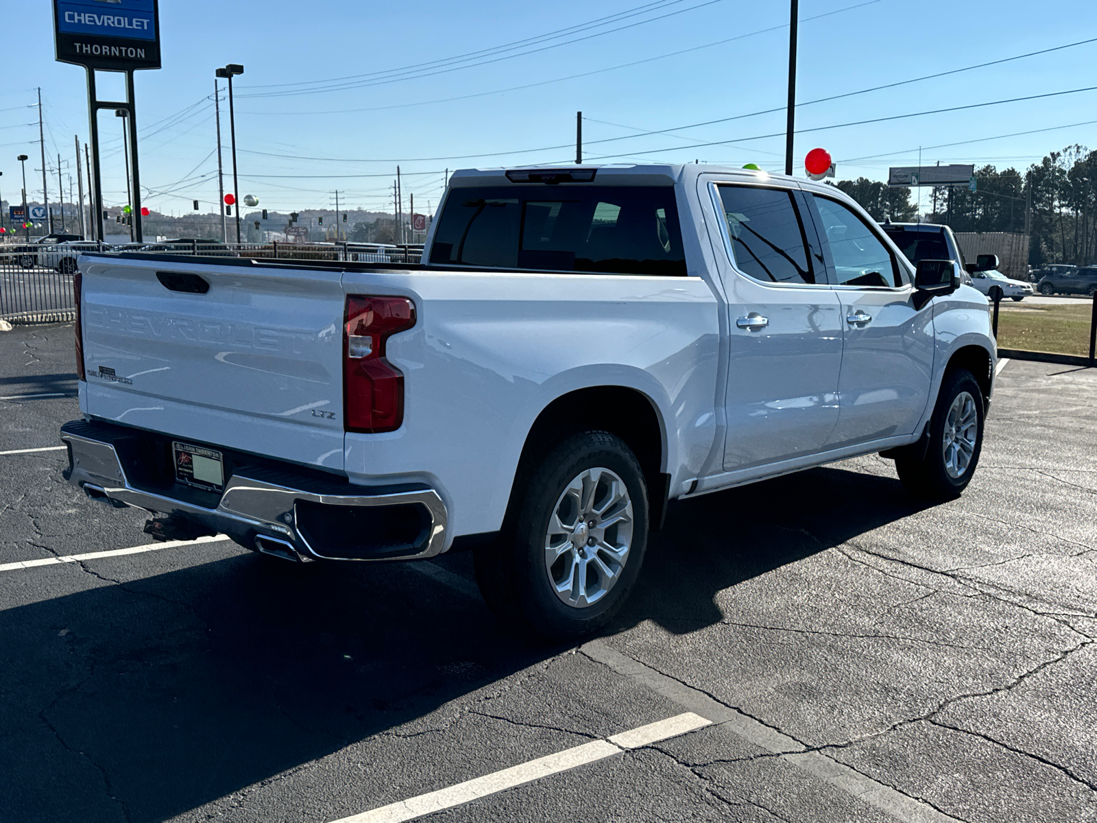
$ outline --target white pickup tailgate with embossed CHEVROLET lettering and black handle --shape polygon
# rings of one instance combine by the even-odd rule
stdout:
[[[340,272],[98,256],[80,270],[84,412],[342,470]]]

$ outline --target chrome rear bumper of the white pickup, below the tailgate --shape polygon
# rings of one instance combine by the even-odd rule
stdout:
[[[139,487],[140,484],[127,477],[120,458],[120,451],[124,449],[117,447],[120,441],[139,433],[106,424],[66,424],[60,437],[69,450],[67,480],[94,499],[188,518],[227,534],[249,549],[267,551],[264,546],[272,544],[292,548],[299,560],[416,560],[432,557],[444,546],[445,505],[438,492],[427,486],[355,486],[317,481],[304,474],[295,478],[292,470],[272,472],[256,466],[234,473],[225,483],[216,505],[207,507],[181,499],[188,494],[185,487],[178,491],[170,486],[156,489]],[[371,507],[414,506],[421,511],[423,527],[406,550],[397,548],[394,553],[388,546],[384,556],[346,556],[338,541],[324,543],[315,534],[309,540],[302,533],[302,504],[314,504],[312,508],[306,506],[308,517],[314,521],[317,511],[330,511],[335,516],[353,514],[346,509],[338,511],[341,507],[365,510]],[[331,508],[318,510],[315,505]]]

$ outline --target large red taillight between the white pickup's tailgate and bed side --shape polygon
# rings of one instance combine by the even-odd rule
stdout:
[[[347,296],[343,324],[343,428],[393,431],[404,421],[404,375],[385,360],[385,340],[415,325],[406,297]]]

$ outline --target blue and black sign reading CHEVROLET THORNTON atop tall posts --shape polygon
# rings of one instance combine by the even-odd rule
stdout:
[[[158,0],[54,0],[54,44],[60,63],[160,68]]]

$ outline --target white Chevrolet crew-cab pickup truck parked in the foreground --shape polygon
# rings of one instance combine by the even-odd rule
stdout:
[[[758,171],[459,171],[420,264],[79,268],[72,483],[296,561],[472,548],[541,638],[610,619],[669,500],[870,452],[959,495],[994,381],[950,261]]]

